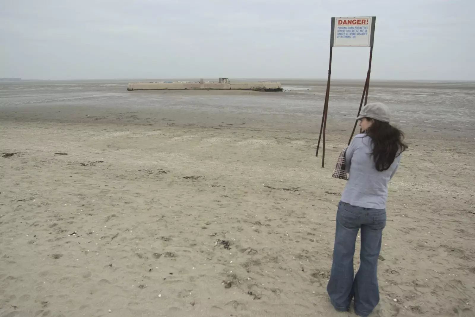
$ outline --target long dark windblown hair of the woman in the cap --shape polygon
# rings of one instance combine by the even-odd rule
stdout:
[[[388,122],[367,119],[372,121],[371,126],[366,130],[366,134],[373,141],[374,147],[371,154],[376,170],[379,172],[386,171],[390,168],[394,159],[408,148],[408,145],[404,143],[404,133]]]

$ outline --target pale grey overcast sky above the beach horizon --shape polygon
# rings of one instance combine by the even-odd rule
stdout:
[[[475,80],[475,0],[0,0],[0,77],[325,78],[331,17],[376,16],[374,79]],[[369,48],[335,48],[364,79]]]

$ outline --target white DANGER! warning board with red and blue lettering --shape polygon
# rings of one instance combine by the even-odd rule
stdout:
[[[332,18],[331,46],[373,46],[376,17]]]

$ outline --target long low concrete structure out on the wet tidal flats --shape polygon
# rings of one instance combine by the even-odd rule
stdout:
[[[229,82],[228,78],[219,78],[218,82],[132,82],[127,90],[252,90],[282,91],[280,82]]]

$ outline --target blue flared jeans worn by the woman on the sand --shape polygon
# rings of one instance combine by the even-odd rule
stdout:
[[[354,298],[355,312],[368,316],[380,301],[378,257],[386,226],[386,209],[371,209],[340,202],[336,214],[333,264],[327,291],[333,307],[346,311]],[[361,230],[360,268],[353,272],[353,255]]]

